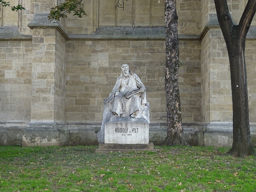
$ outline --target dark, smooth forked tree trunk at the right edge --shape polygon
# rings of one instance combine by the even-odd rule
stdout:
[[[239,25],[231,19],[227,0],[215,0],[217,17],[229,54],[233,103],[233,145],[229,154],[254,154],[249,126],[248,91],[244,58],[245,38],[256,11],[256,0],[248,0]]]

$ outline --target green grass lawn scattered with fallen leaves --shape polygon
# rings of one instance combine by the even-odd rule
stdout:
[[[97,154],[97,146],[0,147],[0,191],[256,191],[256,157],[224,147]]]

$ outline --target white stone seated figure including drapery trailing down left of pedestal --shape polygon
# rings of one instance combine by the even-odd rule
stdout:
[[[101,130],[97,133],[100,143],[104,143],[105,122],[111,121],[112,118],[146,120],[149,123],[149,103],[146,100],[145,86],[140,78],[130,71],[127,64],[123,64],[121,70],[122,74],[112,92],[103,101],[103,122]]]

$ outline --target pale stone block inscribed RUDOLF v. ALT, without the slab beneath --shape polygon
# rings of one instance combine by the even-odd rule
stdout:
[[[105,123],[105,144],[148,144],[149,124],[144,118],[113,118]]]

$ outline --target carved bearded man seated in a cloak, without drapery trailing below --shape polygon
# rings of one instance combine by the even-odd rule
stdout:
[[[122,74],[104,103],[112,103],[111,112],[115,117],[135,118],[142,110],[141,105],[147,105],[145,86],[140,78],[129,70],[127,64],[123,64],[121,70]]]

